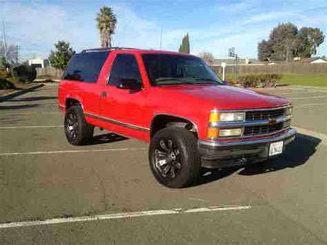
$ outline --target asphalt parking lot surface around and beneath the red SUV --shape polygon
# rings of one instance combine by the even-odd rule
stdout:
[[[327,90],[263,91],[293,101],[287,153],[179,190],[152,177],[147,144],[68,144],[56,85],[1,103],[0,244],[326,244]]]

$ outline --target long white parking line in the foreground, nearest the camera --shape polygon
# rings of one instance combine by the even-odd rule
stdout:
[[[144,217],[144,216],[155,216],[155,215],[179,215],[183,213],[203,213],[203,212],[215,212],[215,211],[228,211],[228,210],[244,210],[250,209],[251,206],[211,206],[208,208],[192,208],[192,209],[171,209],[171,210],[148,210],[139,211],[132,213],[114,213],[110,215],[95,215],[95,216],[83,216],[83,217],[69,217],[59,219],[47,219],[37,220],[31,222],[12,222],[7,224],[0,224],[0,228],[17,228],[24,226],[40,226],[49,224],[63,224],[73,222],[88,222],[103,219],[128,219],[132,217]]]

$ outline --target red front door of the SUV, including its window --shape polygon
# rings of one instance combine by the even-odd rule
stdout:
[[[135,55],[116,55],[108,83],[103,86],[101,93],[101,117],[108,119],[112,124],[146,132],[146,120],[142,116],[142,109],[146,103],[146,90],[118,88],[122,80],[134,80],[142,85]]]

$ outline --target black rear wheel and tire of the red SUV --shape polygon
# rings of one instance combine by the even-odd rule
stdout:
[[[92,139],[95,127],[86,122],[81,106],[68,108],[64,124],[66,138],[70,144],[79,146]]]

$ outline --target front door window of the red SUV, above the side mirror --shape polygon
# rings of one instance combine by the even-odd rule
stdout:
[[[139,66],[134,55],[117,55],[110,71],[108,85],[117,86],[121,79],[136,79],[142,83]]]

